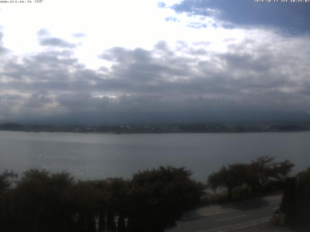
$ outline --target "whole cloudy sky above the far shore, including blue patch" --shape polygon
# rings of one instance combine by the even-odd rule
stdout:
[[[291,0],[0,1],[0,122],[308,120],[309,12]]]

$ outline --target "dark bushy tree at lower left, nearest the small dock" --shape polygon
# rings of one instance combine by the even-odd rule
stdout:
[[[73,224],[69,173],[49,174],[46,171],[24,172],[14,189],[16,231],[69,230]]]

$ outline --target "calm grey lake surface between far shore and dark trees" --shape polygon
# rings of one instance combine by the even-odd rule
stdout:
[[[131,178],[160,165],[185,166],[205,181],[222,165],[259,156],[310,166],[310,131],[266,133],[95,134],[0,131],[0,173],[67,170],[78,179]]]

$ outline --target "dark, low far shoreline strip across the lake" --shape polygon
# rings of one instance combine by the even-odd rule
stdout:
[[[167,134],[167,133],[252,133],[252,132],[300,132],[310,131],[309,123],[141,123],[141,124],[105,124],[105,125],[53,125],[53,124],[17,124],[4,123],[0,131],[71,132],[98,134]]]

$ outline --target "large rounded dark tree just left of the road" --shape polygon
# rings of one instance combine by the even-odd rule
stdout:
[[[134,174],[130,184],[128,232],[163,231],[200,202],[202,184],[191,171],[171,166]]]

